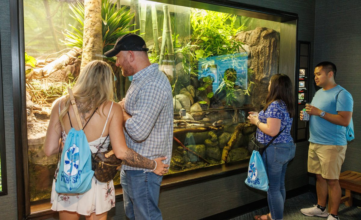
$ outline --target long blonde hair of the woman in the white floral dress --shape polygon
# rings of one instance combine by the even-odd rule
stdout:
[[[113,79],[112,67],[104,61],[94,60],[84,67],[77,83],[72,88],[80,115],[84,116],[87,112],[92,113],[101,104],[113,101]],[[63,119],[70,106],[69,94],[63,100],[65,107],[60,112],[59,120],[64,127]],[[103,114],[104,107],[105,105]]]

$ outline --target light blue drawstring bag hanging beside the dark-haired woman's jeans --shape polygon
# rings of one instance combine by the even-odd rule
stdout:
[[[249,159],[248,176],[244,181],[248,186],[262,191],[268,190],[268,177],[265,165],[261,158],[260,152],[253,150]]]

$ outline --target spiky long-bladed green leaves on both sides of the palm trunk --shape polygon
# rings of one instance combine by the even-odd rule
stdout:
[[[130,13],[124,6],[121,9],[116,8],[116,4],[112,4],[110,0],[102,0],[101,20],[103,35],[103,52],[114,47],[116,40],[125,34],[134,33],[137,30],[127,31],[133,25],[129,25],[134,14]],[[76,5],[69,5],[73,15],[70,15],[77,25],[69,26],[72,30],[65,30],[65,40],[61,40],[65,45],[71,47],[83,47],[83,29],[84,29],[84,3],[77,1]]]

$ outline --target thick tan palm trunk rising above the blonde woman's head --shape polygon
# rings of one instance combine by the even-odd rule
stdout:
[[[84,1],[83,55],[80,73],[93,60],[103,60],[101,0]]]

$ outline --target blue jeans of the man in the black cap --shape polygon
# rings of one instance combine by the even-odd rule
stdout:
[[[163,176],[142,170],[122,170],[125,215],[133,219],[162,219],[158,208],[159,190]]]

